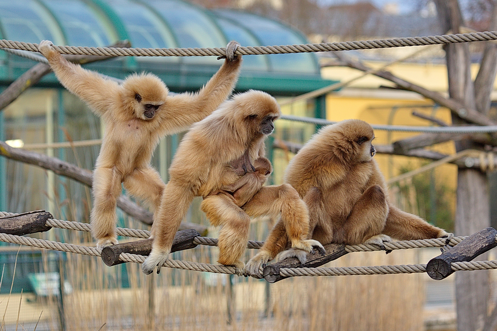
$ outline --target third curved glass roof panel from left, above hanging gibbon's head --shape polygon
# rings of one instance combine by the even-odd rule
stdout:
[[[166,23],[146,5],[132,0],[109,0],[109,5],[126,26],[133,47],[178,47]],[[138,61],[179,61],[178,57],[138,57]]]

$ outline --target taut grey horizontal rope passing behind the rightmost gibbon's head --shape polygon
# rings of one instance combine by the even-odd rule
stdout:
[[[330,125],[337,122],[328,121],[325,119],[317,119],[312,117],[281,115],[281,120],[289,120],[295,122],[312,123],[317,125]],[[401,132],[430,132],[430,133],[482,133],[482,132],[497,132],[497,125],[490,126],[462,126],[462,127],[415,127],[407,125],[383,125],[371,124],[375,130],[385,131],[401,131]]]

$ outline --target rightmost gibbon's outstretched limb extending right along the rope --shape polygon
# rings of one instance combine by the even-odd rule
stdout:
[[[392,205],[382,233],[399,240],[443,238],[448,235],[445,230],[429,224],[421,217]]]

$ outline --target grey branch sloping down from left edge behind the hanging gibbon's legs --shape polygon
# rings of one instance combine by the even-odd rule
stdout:
[[[52,170],[57,175],[72,178],[80,183],[83,183],[84,185],[91,187],[92,177],[89,170],[82,169],[78,166],[75,166],[74,164],[59,160],[58,158],[28,151],[22,148],[10,147],[3,141],[0,141],[0,155],[15,161],[20,161],[44,169]],[[152,213],[145,208],[140,207],[135,202],[131,201],[128,197],[120,196],[117,199],[117,206],[131,217],[140,220],[145,224],[152,225]],[[180,229],[195,229],[202,235],[207,234],[207,227],[196,223],[183,222],[180,225]]]

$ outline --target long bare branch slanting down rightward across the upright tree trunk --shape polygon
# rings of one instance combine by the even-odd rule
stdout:
[[[370,67],[364,66],[360,62],[345,57],[343,54],[341,54],[341,52],[334,52],[333,55],[336,56],[338,60],[340,60],[340,62],[346,64],[351,68],[361,71],[371,70]],[[480,114],[475,109],[468,108],[454,99],[447,99],[441,93],[427,90],[424,87],[415,85],[404,79],[401,79],[395,76],[394,74],[392,74],[390,71],[378,71],[375,72],[374,75],[390,80],[396,83],[397,85],[399,85],[403,89],[421,94],[422,96],[433,100],[440,106],[449,108],[453,113],[457,114],[460,118],[468,122],[472,122],[479,125],[496,125],[496,122],[492,121],[487,116]]]

